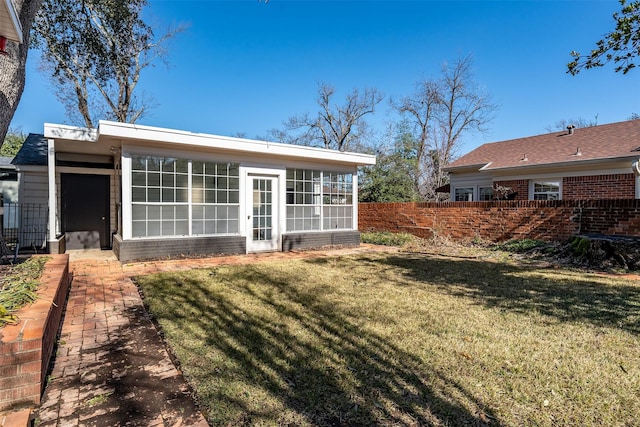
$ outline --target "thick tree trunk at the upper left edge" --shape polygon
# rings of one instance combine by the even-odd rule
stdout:
[[[24,90],[29,35],[42,0],[14,0],[22,24],[23,43],[7,42],[9,55],[0,56],[0,146]]]

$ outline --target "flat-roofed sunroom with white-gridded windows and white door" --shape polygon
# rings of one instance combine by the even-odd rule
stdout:
[[[375,157],[101,121],[45,125],[49,246],[122,261],[360,242],[357,167]]]

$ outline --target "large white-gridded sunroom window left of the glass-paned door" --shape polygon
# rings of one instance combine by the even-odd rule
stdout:
[[[238,233],[237,164],[131,157],[133,237]]]

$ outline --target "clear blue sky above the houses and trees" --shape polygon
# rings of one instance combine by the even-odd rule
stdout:
[[[569,52],[588,52],[613,29],[617,1],[285,1],[150,0],[148,22],[186,24],[169,65],[142,76],[139,94],[156,107],[140,124],[220,135],[264,136],[288,117],[317,111],[318,82],[376,87],[387,99],[374,128],[396,119],[390,96],[437,78],[443,62],[473,55],[476,80],[499,105],[484,142],[545,133],[561,119],[599,124],[640,114],[640,69],[612,66],[566,74]],[[26,88],[12,121],[25,133],[69,123],[29,56]],[[76,123],[73,123],[76,124]]]

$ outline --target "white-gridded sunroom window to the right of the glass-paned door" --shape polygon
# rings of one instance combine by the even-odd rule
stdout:
[[[287,231],[353,227],[353,174],[287,169]]]

